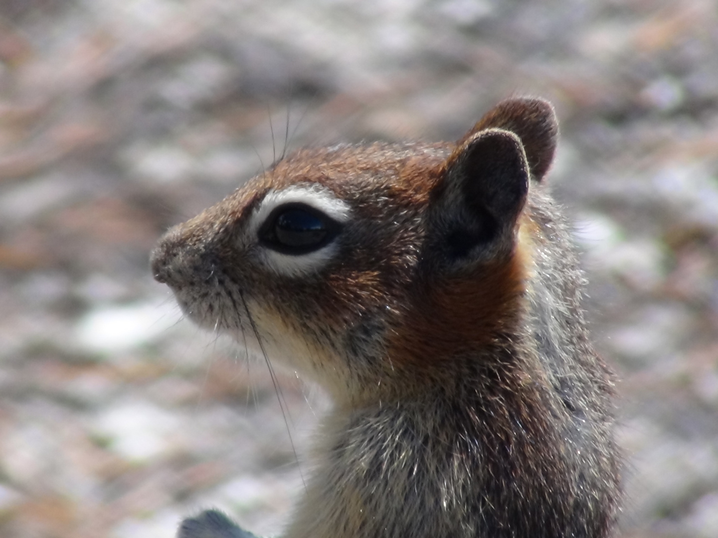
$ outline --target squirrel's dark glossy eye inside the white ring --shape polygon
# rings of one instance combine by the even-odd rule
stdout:
[[[267,247],[283,254],[311,253],[327,245],[339,223],[313,207],[284,204],[271,212],[259,228],[259,239]]]

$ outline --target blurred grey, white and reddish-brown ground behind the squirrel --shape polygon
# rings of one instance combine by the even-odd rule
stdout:
[[[0,535],[277,533],[322,396],[181,319],[148,255],[284,153],[555,105],[624,537],[718,537],[714,0],[0,0]],[[295,448],[292,448],[292,441]]]

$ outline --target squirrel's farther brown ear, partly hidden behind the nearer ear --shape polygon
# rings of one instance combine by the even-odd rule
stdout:
[[[554,161],[559,123],[551,103],[543,99],[514,98],[498,103],[488,111],[458,143],[486,129],[504,129],[521,139],[528,168],[541,181]]]

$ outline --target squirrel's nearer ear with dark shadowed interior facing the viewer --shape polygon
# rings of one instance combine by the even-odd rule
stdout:
[[[453,258],[513,233],[529,177],[518,136],[502,129],[476,133],[447,159],[444,174],[434,222]]]

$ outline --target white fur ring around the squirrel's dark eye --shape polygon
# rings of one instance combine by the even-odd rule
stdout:
[[[247,227],[247,238],[256,242],[259,227],[269,214],[281,204],[301,203],[307,204],[327,215],[337,222],[348,222],[351,217],[351,208],[344,200],[335,197],[330,190],[320,185],[293,185],[281,191],[269,191],[259,207],[250,217]],[[259,258],[275,273],[291,277],[298,277],[315,273],[326,265],[337,253],[337,244],[328,245],[302,255],[287,255],[266,247],[258,247]]]

